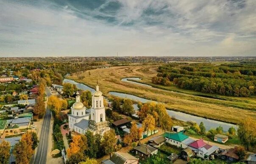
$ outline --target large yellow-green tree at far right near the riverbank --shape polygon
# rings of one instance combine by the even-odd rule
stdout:
[[[256,140],[256,121],[245,118],[238,124],[237,135],[242,145],[249,150],[249,146]]]

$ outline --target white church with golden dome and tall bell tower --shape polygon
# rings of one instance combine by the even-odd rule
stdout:
[[[92,94],[92,108],[87,109],[80,102],[79,93],[76,93],[76,102],[71,107],[69,115],[69,128],[80,134],[84,134],[87,130],[93,134],[104,134],[108,131],[109,123],[106,121],[105,107],[103,105],[103,95],[96,85],[96,91]]]

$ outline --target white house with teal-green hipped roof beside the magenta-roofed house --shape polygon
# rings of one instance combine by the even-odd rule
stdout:
[[[167,132],[164,134],[164,138],[167,140],[167,143],[175,145],[177,147],[186,148],[194,140],[184,135],[183,132],[170,133]]]

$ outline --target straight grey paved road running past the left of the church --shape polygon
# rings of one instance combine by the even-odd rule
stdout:
[[[47,96],[51,96],[51,92],[48,88],[45,89]],[[50,119],[51,119],[51,112],[47,108],[44,122],[42,124],[39,145],[37,147],[36,157],[33,161],[33,164],[46,164],[47,158],[47,149],[48,149],[48,138],[49,138],[49,131],[50,131]]]

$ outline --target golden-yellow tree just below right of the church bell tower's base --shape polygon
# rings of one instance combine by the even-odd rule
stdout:
[[[105,149],[105,153],[109,154],[111,157],[111,153],[115,151],[115,147],[117,145],[117,138],[114,129],[106,131],[103,134],[102,146]]]

